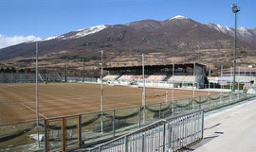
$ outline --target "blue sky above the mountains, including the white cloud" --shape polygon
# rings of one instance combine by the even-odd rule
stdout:
[[[183,15],[203,24],[256,27],[256,0],[0,0],[0,48],[95,25]]]

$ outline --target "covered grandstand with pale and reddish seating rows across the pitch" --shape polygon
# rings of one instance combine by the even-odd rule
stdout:
[[[174,76],[173,76],[174,66]],[[167,65],[145,65],[145,81],[150,83],[169,84],[174,88],[203,88],[206,66],[199,63],[182,63]],[[142,66],[106,67],[108,75],[104,81],[114,84],[139,84],[143,81]],[[171,84],[171,85],[170,85]]]

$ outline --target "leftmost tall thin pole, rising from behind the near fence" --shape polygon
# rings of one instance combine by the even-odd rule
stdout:
[[[39,115],[38,115],[38,42],[36,42],[36,132],[37,147],[40,147],[39,141]]]

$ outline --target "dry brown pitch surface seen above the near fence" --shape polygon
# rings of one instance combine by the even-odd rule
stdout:
[[[146,89],[146,92],[160,89]],[[162,89],[163,90],[163,89]],[[141,105],[142,88],[104,85],[103,110]],[[85,83],[39,84],[40,118],[50,118],[100,110],[101,85]],[[163,92],[161,92],[163,93]],[[171,99],[172,90],[168,90]],[[208,92],[195,92],[195,96]],[[192,91],[174,90],[174,99],[192,97]],[[35,119],[35,84],[0,85],[0,124]],[[147,99],[147,104],[165,101],[165,96]]]

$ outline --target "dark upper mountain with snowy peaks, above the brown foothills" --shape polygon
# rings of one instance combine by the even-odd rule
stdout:
[[[256,48],[256,28],[237,29],[238,42],[244,50]],[[97,25],[39,41],[40,54],[67,52],[81,54],[87,43],[86,55],[107,47],[111,54],[141,52],[178,53],[204,49],[232,49],[234,29],[218,24],[201,24],[177,15],[165,21],[142,20],[126,25]],[[24,42],[0,49],[1,59],[31,57],[34,42]]]

